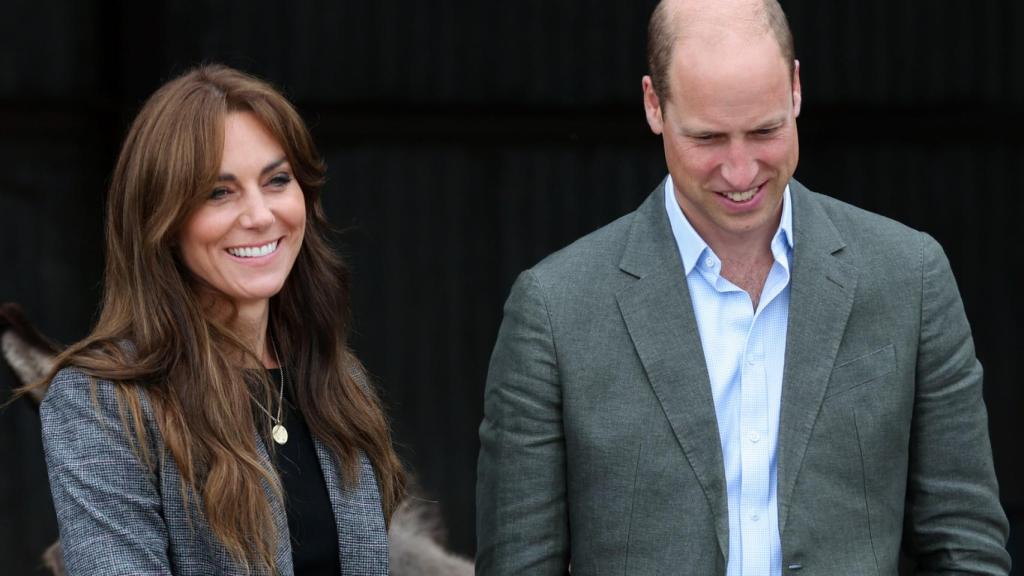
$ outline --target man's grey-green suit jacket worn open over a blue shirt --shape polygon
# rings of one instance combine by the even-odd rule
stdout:
[[[1006,574],[982,371],[938,244],[792,182],[783,573]],[[664,189],[524,272],[484,397],[479,574],[724,574],[705,355]]]

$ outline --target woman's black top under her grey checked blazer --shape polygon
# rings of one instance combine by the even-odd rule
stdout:
[[[270,370],[270,377],[276,385],[281,385],[281,370]],[[288,442],[284,446],[274,444],[271,448],[275,450],[274,461],[285,489],[292,563],[296,576],[337,576],[341,574],[341,564],[338,560],[338,528],[334,522],[334,508],[312,436],[294,400],[293,386],[289,373],[282,411],[282,420],[288,428]]]

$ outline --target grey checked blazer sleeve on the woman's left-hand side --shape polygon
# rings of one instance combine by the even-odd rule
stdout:
[[[171,574],[157,480],[132,448],[114,384],[66,368],[40,415],[68,575]]]

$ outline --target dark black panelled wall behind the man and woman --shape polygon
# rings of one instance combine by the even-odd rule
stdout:
[[[665,173],[643,119],[651,0],[28,0],[0,4],[0,300],[63,342],[95,314],[102,200],[161,82],[224,61],[280,86],[330,166],[355,269],[355,346],[401,452],[471,553],[486,363],[515,275],[632,210]],[[1005,504],[1024,508],[1024,3],[783,0],[812,189],[942,242],[986,368]],[[0,386],[10,386],[8,374]],[[24,403],[0,413],[0,562],[55,537]]]

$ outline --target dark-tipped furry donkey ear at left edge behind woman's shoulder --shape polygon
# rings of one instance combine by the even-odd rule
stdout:
[[[53,369],[57,346],[39,333],[17,304],[0,304],[0,353],[20,385],[36,383]],[[45,389],[34,388],[31,398],[42,402]]]

